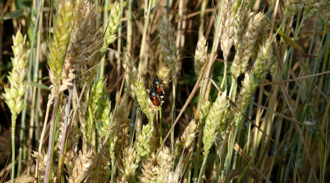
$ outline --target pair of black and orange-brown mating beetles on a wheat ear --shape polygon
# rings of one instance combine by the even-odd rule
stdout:
[[[165,90],[163,84],[161,84],[161,79],[159,80],[156,76],[152,80],[152,88],[149,92],[149,98],[154,106],[160,106],[164,101]]]

